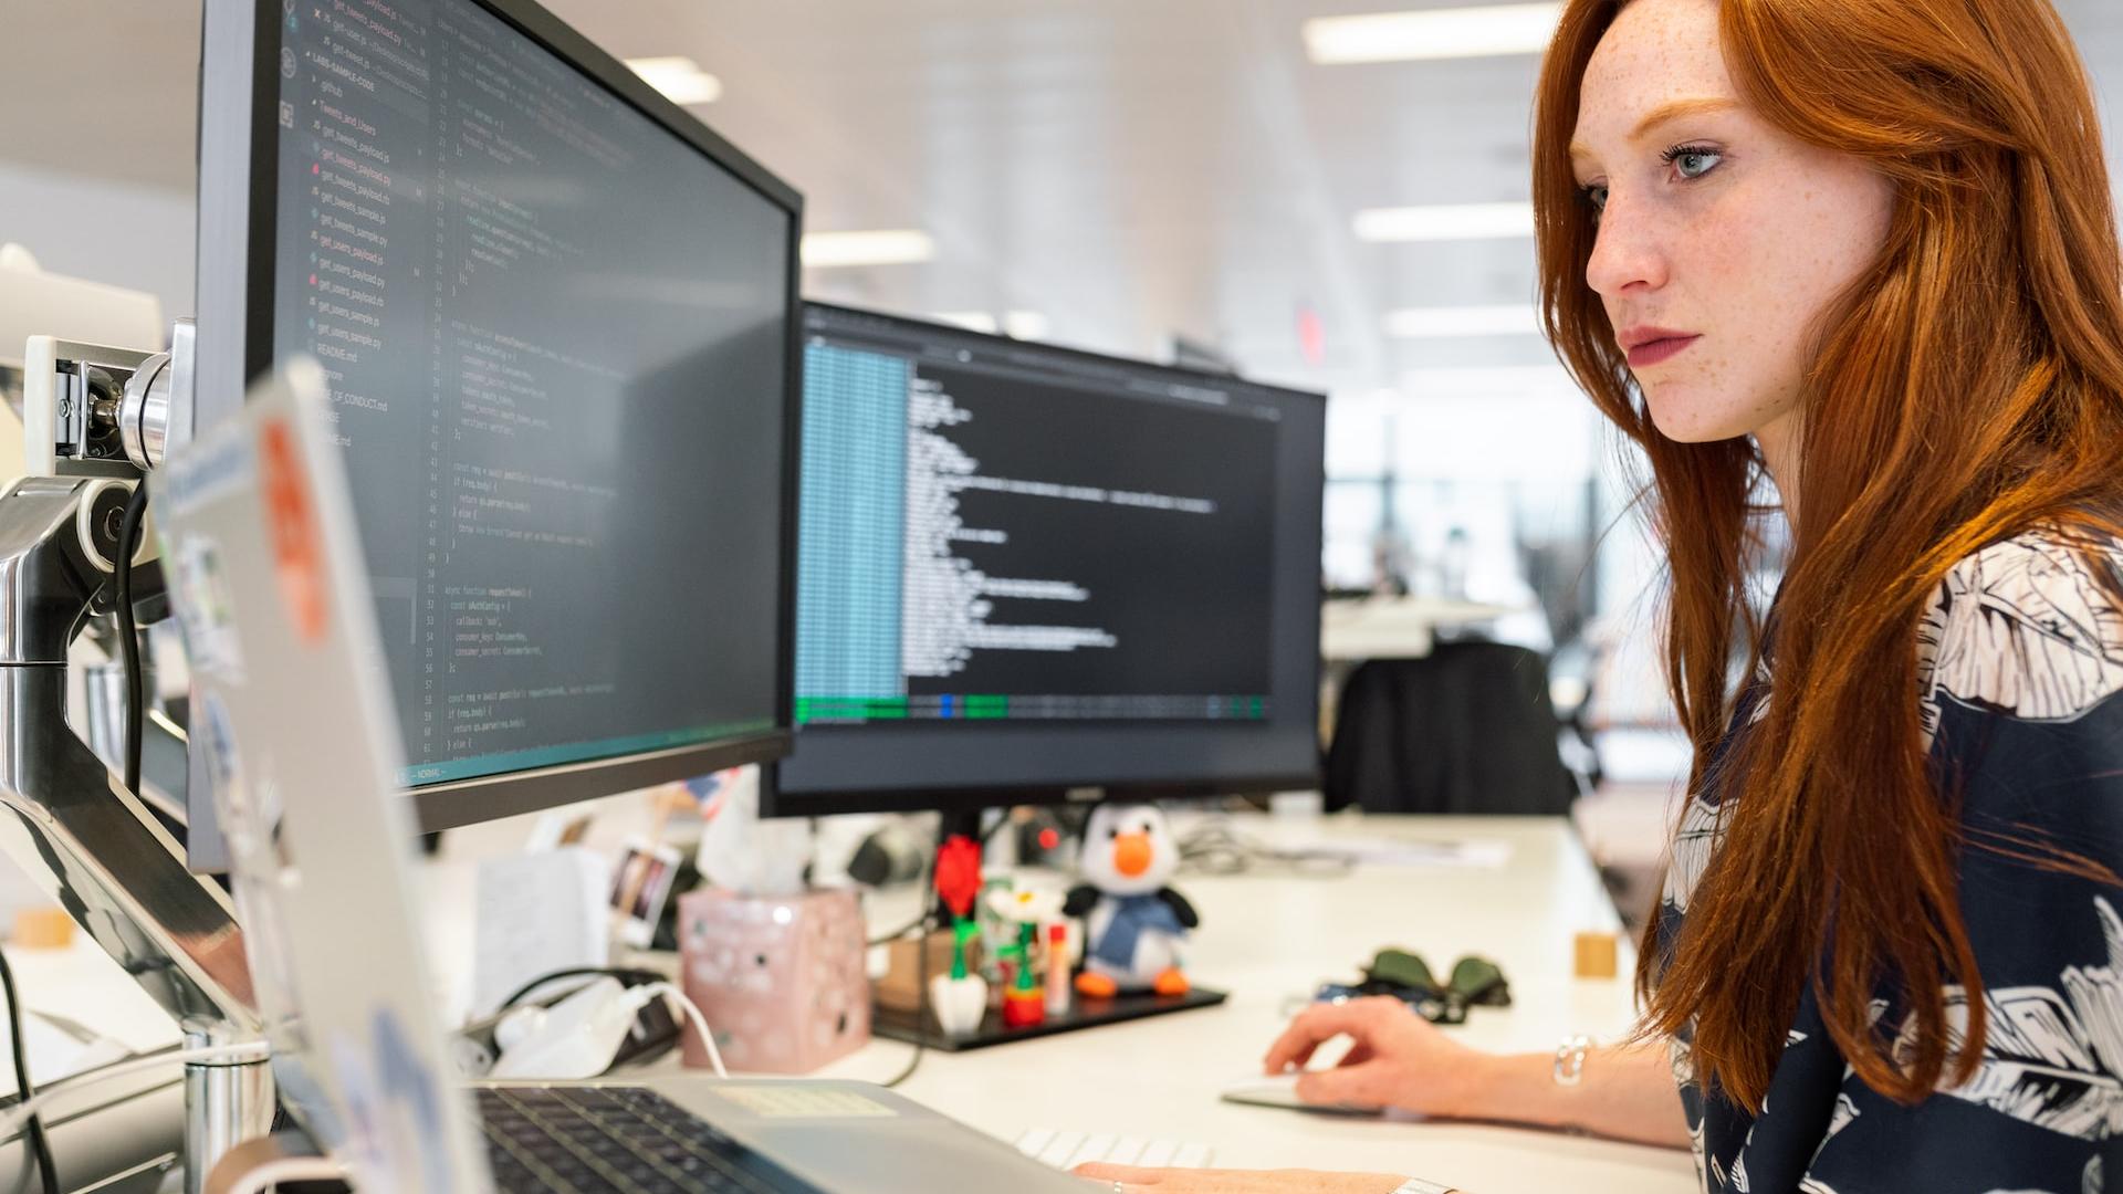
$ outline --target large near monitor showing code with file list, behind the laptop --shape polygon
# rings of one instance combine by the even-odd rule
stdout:
[[[425,829],[786,750],[800,215],[527,0],[208,0],[178,427],[329,370]]]

